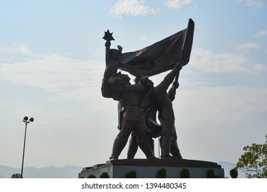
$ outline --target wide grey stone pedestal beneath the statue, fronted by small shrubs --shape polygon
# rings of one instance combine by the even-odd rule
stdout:
[[[121,159],[107,160],[105,164],[84,167],[79,178],[94,175],[97,178],[107,172],[110,178],[125,178],[129,171],[136,171],[137,178],[156,178],[160,169],[166,169],[166,178],[181,178],[181,171],[186,168],[190,178],[207,178],[207,171],[214,170],[214,175],[224,178],[225,171],[220,165],[203,160],[187,159]]]

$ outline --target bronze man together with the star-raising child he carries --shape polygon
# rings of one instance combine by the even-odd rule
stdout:
[[[114,40],[114,38],[108,30],[105,32],[104,39],[107,40],[105,43],[106,69],[103,75],[101,91],[103,97],[112,97],[114,100],[118,100],[118,128],[120,130],[114,141],[110,159],[118,159],[127,144],[132,130],[138,135],[139,147],[147,158],[155,158],[153,150],[148,145],[149,136],[143,130],[146,125],[144,117],[140,116],[138,108],[140,94],[144,87],[141,84],[131,85],[128,75],[117,73],[122,47],[118,46],[118,50],[110,49],[110,40]]]

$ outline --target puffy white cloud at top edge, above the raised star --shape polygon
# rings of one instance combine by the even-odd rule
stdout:
[[[144,5],[144,0],[118,0],[110,9],[110,14],[120,17],[122,14],[142,16],[157,14],[158,9],[151,9]]]

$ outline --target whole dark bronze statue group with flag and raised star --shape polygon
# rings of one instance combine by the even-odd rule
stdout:
[[[169,36],[138,51],[122,53],[123,47],[110,49],[114,40],[109,30],[105,43],[105,73],[101,86],[103,97],[118,101],[118,129],[111,160],[118,159],[131,135],[127,158],[133,158],[138,146],[147,158],[155,158],[153,138],[160,136],[161,158],[182,158],[177,145],[175,114],[172,101],[178,88],[179,71],[188,64],[194,35],[194,21],[173,36]],[[128,75],[136,76],[135,84]],[[157,86],[149,76],[171,70]],[[173,82],[175,80],[175,82]],[[172,84],[167,93],[167,89]],[[156,122],[159,114],[160,125]],[[173,156],[171,156],[172,154]]]

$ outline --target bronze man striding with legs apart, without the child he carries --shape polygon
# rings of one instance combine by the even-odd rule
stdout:
[[[119,74],[125,81],[125,85],[116,87],[116,91],[121,93],[118,106],[119,111],[123,112],[123,119],[119,122],[120,132],[114,141],[110,159],[118,159],[118,156],[127,144],[128,138],[132,131],[136,132],[138,145],[147,158],[155,158],[153,149],[151,149],[151,145],[149,145],[149,134],[147,134],[147,132],[144,130],[147,125],[144,117],[140,115],[139,110],[140,95],[144,90],[144,86],[141,84],[132,85],[129,82],[130,78],[128,75],[121,73]]]

